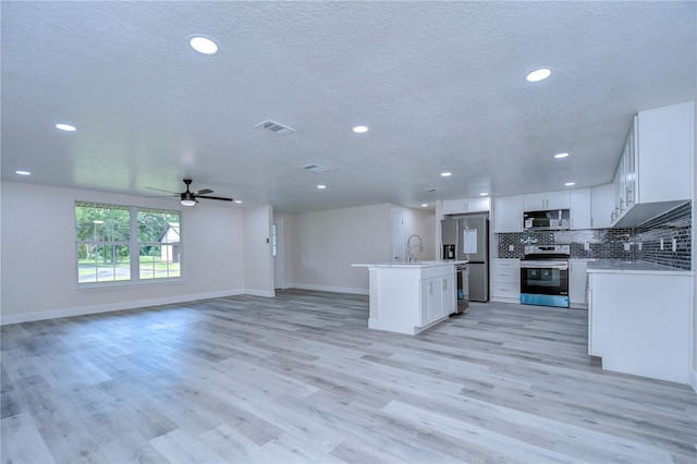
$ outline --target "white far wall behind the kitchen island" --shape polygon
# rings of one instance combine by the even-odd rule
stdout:
[[[424,254],[418,259],[433,259],[433,215],[428,211],[386,203],[292,215],[283,224],[289,286],[367,294],[367,270],[351,265],[392,260],[393,209],[404,211],[405,245],[411,234],[419,234]]]

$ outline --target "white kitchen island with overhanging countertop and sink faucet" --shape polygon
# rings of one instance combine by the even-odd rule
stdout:
[[[370,276],[368,328],[416,334],[456,310],[455,266],[465,260],[354,264]]]

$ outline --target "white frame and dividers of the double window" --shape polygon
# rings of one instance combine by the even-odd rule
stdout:
[[[95,208],[112,208],[122,209],[129,211],[129,241],[85,241],[78,237],[78,224],[77,224],[77,207],[95,207]],[[140,278],[140,247],[142,246],[163,246],[161,242],[140,242],[138,230],[138,211],[155,211],[155,212],[169,212],[175,213],[179,217],[179,276],[175,277],[157,277],[157,278]],[[75,228],[73,237],[75,240],[75,281],[78,290],[90,290],[101,288],[130,288],[134,285],[166,285],[172,283],[180,283],[185,280],[185,246],[182,234],[182,210],[181,209],[166,209],[166,208],[152,208],[134,205],[119,205],[108,204],[101,202],[83,202],[76,200],[73,207],[73,225]],[[107,246],[127,246],[129,247],[129,262],[130,262],[130,278],[124,280],[105,280],[105,281],[80,281],[80,248],[81,245],[107,245]],[[172,245],[173,246],[173,245]]]

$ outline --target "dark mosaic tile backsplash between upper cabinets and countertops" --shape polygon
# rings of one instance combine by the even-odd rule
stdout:
[[[568,243],[572,259],[640,259],[692,270],[692,203],[678,206],[635,229],[499,233],[497,242],[499,258],[522,258],[525,245]]]

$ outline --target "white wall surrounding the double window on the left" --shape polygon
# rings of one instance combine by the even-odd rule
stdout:
[[[241,208],[215,202],[185,208],[166,199],[15,182],[2,182],[0,191],[2,323],[244,292],[246,231]],[[75,200],[181,209],[184,281],[78,289]]]

